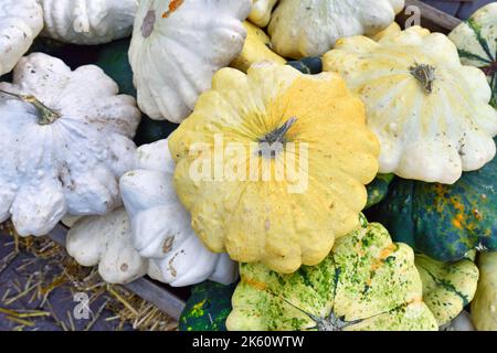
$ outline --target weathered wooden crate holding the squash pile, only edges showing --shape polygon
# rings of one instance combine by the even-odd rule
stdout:
[[[448,33],[461,20],[434,9],[426,3],[419,0],[406,0],[408,6],[416,6],[421,10],[421,24],[432,31]],[[402,25],[405,23],[408,15],[401,13],[398,17],[398,22]],[[60,244],[65,244],[65,236],[67,228],[63,225],[51,232],[49,235],[53,240]],[[137,279],[130,284],[124,285],[125,288],[141,297],[148,302],[155,304],[157,308],[169,314],[171,318],[178,320],[181,311],[184,308],[188,290],[172,288],[170,286],[156,282],[147,277]]]

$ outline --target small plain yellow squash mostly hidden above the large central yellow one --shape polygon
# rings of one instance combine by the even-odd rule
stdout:
[[[263,30],[247,21],[243,22],[243,26],[246,30],[246,40],[242,53],[231,63],[231,67],[246,73],[248,67],[257,62],[272,61],[285,65],[286,60],[269,49],[271,39]]]

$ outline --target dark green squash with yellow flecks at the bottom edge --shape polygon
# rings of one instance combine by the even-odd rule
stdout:
[[[231,297],[236,285],[204,281],[193,287],[179,321],[180,331],[226,331]]]

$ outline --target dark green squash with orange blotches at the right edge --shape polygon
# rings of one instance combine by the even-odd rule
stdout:
[[[497,159],[453,185],[395,179],[374,208],[395,242],[442,261],[497,250]]]

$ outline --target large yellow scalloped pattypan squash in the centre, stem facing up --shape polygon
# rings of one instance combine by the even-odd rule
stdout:
[[[271,62],[247,75],[219,71],[169,149],[205,245],[278,272],[320,263],[359,225],[379,156],[363,105],[339,75]]]

